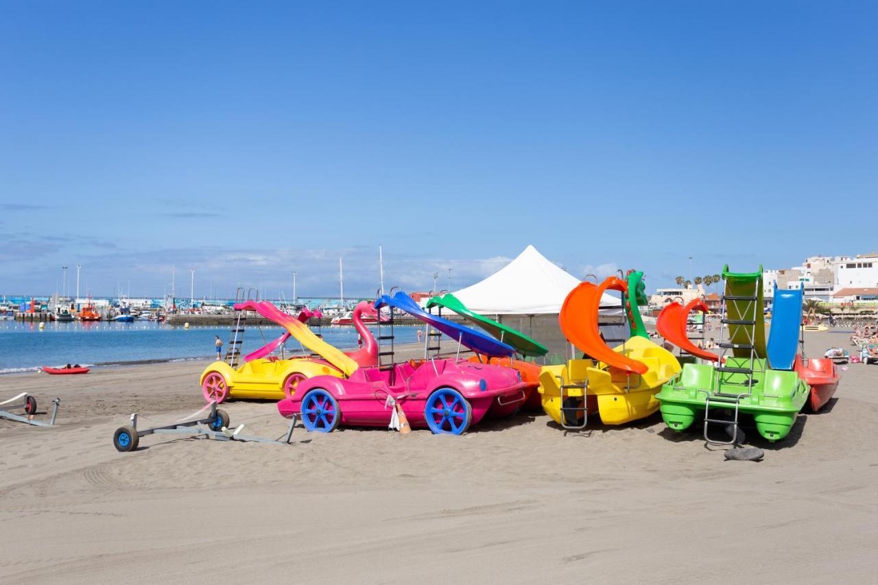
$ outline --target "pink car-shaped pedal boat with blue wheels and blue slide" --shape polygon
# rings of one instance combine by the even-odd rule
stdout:
[[[406,293],[384,295],[375,307],[392,307],[427,323],[477,354],[491,358],[511,356],[515,350],[480,331],[425,313]],[[392,320],[391,320],[392,327]],[[392,330],[392,329],[391,329]],[[427,340],[431,336],[427,336]],[[378,335],[378,341],[391,340]],[[425,343],[425,354],[428,349]],[[378,352],[379,357],[393,350]],[[430,358],[421,363],[389,363],[360,367],[347,379],[315,376],[299,382],[292,398],[277,403],[284,417],[301,415],[306,430],[331,432],[340,424],[388,426],[398,404],[413,427],[435,434],[461,435],[479,423],[489,409],[514,411],[526,398],[527,384],[519,372],[464,358]]]

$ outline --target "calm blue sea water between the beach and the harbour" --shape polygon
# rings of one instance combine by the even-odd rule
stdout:
[[[375,332],[375,328],[371,328]],[[417,341],[417,328],[397,327],[396,343]],[[257,350],[284,332],[279,327],[248,327],[242,354]],[[342,349],[356,348],[353,327],[324,327],[320,333],[327,343]],[[0,321],[0,373],[36,371],[43,365],[124,365],[212,358],[214,336],[228,346],[228,327],[184,329],[148,321],[133,323],[69,322],[38,323]],[[301,351],[290,340],[286,350]]]

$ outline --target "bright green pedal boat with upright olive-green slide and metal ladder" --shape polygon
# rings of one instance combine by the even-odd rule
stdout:
[[[680,373],[662,386],[656,395],[662,418],[678,431],[701,420],[706,441],[734,444],[738,442],[739,415],[752,415],[759,435],[774,443],[789,434],[810,388],[791,367],[773,368],[766,356],[762,267],[758,272],[736,273],[726,265],[723,279],[721,322],[728,329],[728,338],[723,339],[721,333],[719,360],[716,365],[684,364]],[[774,329],[772,333],[775,335]],[[784,336],[792,343],[796,337],[795,331]],[[730,430],[730,440],[709,438],[711,424]]]

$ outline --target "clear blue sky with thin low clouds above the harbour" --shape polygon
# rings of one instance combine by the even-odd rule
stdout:
[[[866,252],[876,7],[4,0],[0,293]]]

